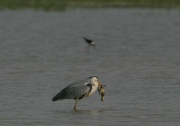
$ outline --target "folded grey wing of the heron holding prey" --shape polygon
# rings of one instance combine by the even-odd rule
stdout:
[[[89,83],[90,79],[85,78],[83,80],[74,82],[65,87],[60,93],[54,96],[53,101],[60,99],[79,99],[86,96],[92,89],[92,85]]]

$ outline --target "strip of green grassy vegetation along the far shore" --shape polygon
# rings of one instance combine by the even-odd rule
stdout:
[[[0,0],[0,9],[66,10],[105,7],[180,8],[180,0]]]

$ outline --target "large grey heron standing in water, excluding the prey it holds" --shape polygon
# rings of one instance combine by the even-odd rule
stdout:
[[[101,85],[98,77],[96,76],[84,78],[83,80],[71,83],[62,89],[53,97],[52,101],[75,99],[76,102],[74,104],[74,110],[76,110],[78,100],[91,96],[98,88],[102,86],[103,85]]]

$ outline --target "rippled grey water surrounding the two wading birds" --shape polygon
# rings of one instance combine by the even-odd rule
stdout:
[[[179,126],[179,10],[0,12],[0,125]],[[97,42],[96,50],[82,37]],[[52,102],[96,75],[105,102]]]

